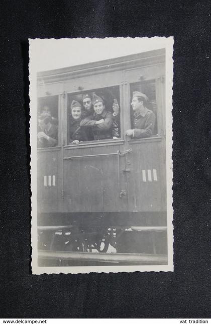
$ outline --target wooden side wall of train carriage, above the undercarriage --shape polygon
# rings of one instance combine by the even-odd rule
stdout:
[[[38,97],[57,98],[59,119],[58,147],[38,150],[40,212],[165,211],[164,62],[159,50],[38,76]],[[147,83],[155,92],[158,134],[128,141],[131,91]],[[70,96],[112,87],[119,92],[121,138],[67,145]]]

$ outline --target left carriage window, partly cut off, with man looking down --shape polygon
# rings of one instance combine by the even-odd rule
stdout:
[[[38,98],[37,147],[58,145],[58,96]]]

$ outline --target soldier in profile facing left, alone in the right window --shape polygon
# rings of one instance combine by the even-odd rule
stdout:
[[[133,108],[133,129],[128,129],[126,135],[132,139],[146,138],[153,135],[155,127],[155,114],[146,107],[148,97],[138,91],[133,92],[131,102]]]

